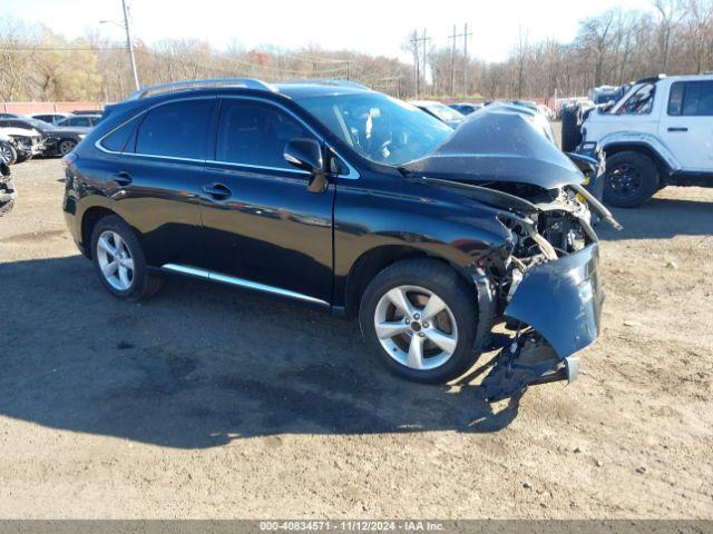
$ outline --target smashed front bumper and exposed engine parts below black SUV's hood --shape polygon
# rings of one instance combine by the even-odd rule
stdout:
[[[531,385],[572,382],[579,370],[575,353],[599,334],[599,248],[579,192],[567,187],[543,191],[529,212],[498,216],[512,243],[479,267],[500,305],[497,316],[515,336],[482,382],[488,402],[519,395]]]

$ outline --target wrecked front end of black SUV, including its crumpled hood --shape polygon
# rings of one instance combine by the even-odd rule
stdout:
[[[402,167],[432,187],[492,208],[510,233],[475,258],[481,352],[498,322],[508,338],[482,382],[498,400],[576,377],[574,354],[599,333],[604,295],[593,214],[621,228],[585,176],[519,115],[473,113],[429,156]]]

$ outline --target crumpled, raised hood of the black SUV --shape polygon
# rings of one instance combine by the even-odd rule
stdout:
[[[584,180],[569,158],[525,117],[487,108],[470,115],[431,155],[402,168],[429,178],[533,184],[545,189]]]

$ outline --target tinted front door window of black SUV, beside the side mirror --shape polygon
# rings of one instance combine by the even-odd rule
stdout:
[[[284,148],[294,138],[313,138],[300,122],[275,106],[224,100],[215,156],[218,161],[292,170]]]

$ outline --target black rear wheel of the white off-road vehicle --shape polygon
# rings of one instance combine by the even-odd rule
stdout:
[[[658,190],[658,169],[639,152],[619,152],[606,158],[604,201],[618,208],[635,208]]]

